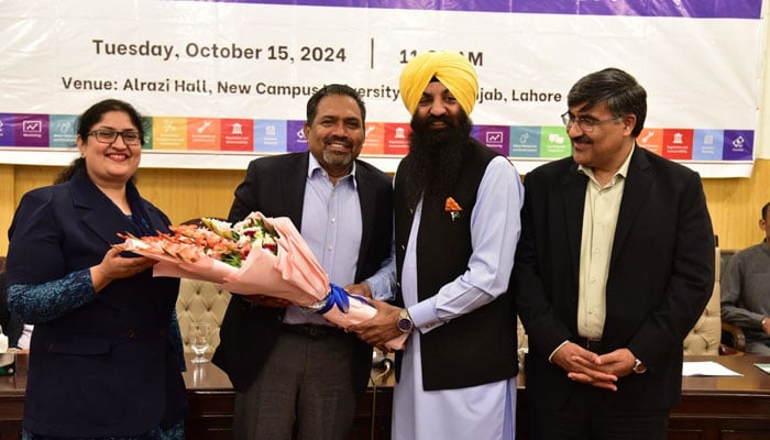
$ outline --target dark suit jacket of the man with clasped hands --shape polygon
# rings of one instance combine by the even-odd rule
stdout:
[[[527,395],[558,408],[575,384],[548,361],[578,338],[578,286],[587,177],[572,157],[525,179],[522,232],[513,283],[529,338]],[[714,232],[700,176],[647,150],[634,150],[625,182],[606,284],[605,352],[628,348],[645,374],[606,392],[616,407],[667,409],[679,404],[682,341],[714,287]]]

